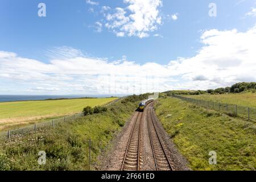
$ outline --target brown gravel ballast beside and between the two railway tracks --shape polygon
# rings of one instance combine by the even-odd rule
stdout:
[[[149,113],[150,107],[147,106],[144,109],[142,114],[142,163],[141,170],[142,171],[155,171],[155,159],[151,148],[150,137],[148,133],[148,125],[147,125],[147,114]],[[153,109],[152,109],[153,110]],[[99,160],[101,164],[96,167],[98,170],[106,170],[106,171],[119,171],[122,166],[123,158],[125,155],[126,147],[128,140],[130,138],[131,130],[133,129],[133,125],[138,117],[139,113],[135,112],[133,117],[126,122],[126,125],[123,127],[122,131],[115,137],[112,141],[113,148],[108,152],[108,154],[100,156]],[[172,166],[174,170],[189,170],[187,167],[187,161],[185,158],[179,154],[177,151],[175,144],[168,137],[167,133],[164,131],[161,123],[158,121],[155,112],[153,110],[153,117],[156,121],[156,130],[159,131],[159,135],[161,140],[164,143],[164,147],[167,151],[168,156],[171,159]]]

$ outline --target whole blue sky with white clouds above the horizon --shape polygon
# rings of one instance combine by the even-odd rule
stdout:
[[[1,0],[0,94],[138,94],[256,81],[253,0]]]

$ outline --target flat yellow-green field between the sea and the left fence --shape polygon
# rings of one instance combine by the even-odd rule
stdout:
[[[64,117],[85,106],[104,105],[117,98],[0,102],[0,131]]]

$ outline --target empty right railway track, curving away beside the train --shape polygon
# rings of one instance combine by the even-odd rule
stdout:
[[[170,162],[169,156],[167,155],[167,151],[164,148],[164,144],[158,130],[156,129],[156,119],[154,117],[152,105],[148,106],[147,113],[147,128],[148,134],[150,137],[150,143],[152,147],[152,152],[155,160],[156,171],[174,171],[172,164]]]

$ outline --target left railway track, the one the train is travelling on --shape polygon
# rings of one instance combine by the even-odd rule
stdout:
[[[139,171],[142,165],[141,144],[142,144],[142,119],[143,113],[136,113],[136,120],[131,130],[127,143],[125,156],[123,158],[121,171]]]

